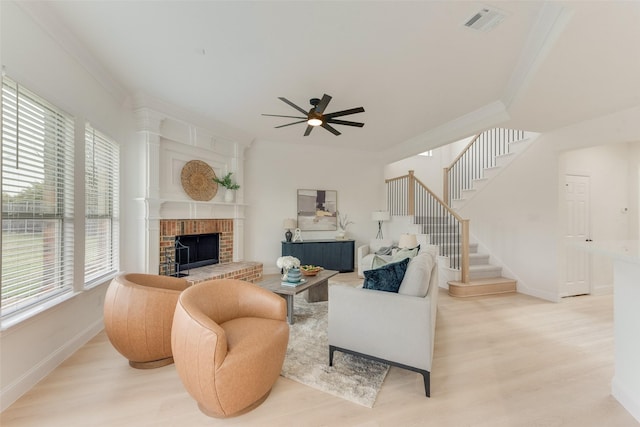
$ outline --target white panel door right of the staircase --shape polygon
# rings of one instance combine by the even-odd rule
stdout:
[[[566,203],[566,281],[561,296],[591,293],[589,283],[589,254],[573,247],[572,243],[591,241],[589,237],[589,177],[565,176]]]

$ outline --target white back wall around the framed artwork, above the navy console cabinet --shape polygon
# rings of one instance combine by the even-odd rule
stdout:
[[[299,145],[256,141],[245,152],[245,171],[245,258],[262,262],[265,273],[277,272],[282,221],[296,218],[298,189],[336,190],[338,210],[354,222],[347,237],[356,247],[377,233],[371,212],[385,208],[385,193],[383,163],[373,155],[309,146],[302,138]],[[302,232],[304,240],[335,235]]]

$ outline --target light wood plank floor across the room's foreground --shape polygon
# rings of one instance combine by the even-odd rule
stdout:
[[[559,304],[440,292],[431,398],[391,368],[368,409],[279,378],[253,412],[200,413],[173,365],[136,370],[100,333],[1,414],[15,426],[638,426],[611,397],[612,296]],[[402,331],[398,331],[402,333]]]

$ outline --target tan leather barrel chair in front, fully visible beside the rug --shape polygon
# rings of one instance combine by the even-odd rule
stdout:
[[[280,376],[288,342],[285,300],[253,283],[209,280],[180,295],[173,357],[208,416],[232,417],[260,405]]]

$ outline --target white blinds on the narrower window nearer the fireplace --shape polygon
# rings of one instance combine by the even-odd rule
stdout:
[[[85,127],[86,285],[118,270],[119,146]]]

